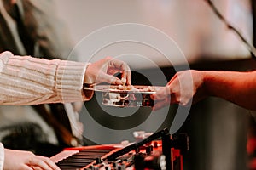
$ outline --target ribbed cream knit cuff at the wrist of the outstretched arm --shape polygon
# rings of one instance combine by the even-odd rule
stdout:
[[[87,64],[62,60],[57,68],[56,91],[63,103],[87,100],[83,93]]]

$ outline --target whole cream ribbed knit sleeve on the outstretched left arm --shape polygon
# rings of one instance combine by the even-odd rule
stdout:
[[[0,105],[35,105],[86,100],[86,64],[0,54]]]

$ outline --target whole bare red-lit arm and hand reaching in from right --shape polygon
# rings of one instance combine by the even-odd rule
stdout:
[[[207,96],[256,111],[256,71],[180,71],[152,98],[158,110],[170,104],[194,104]]]

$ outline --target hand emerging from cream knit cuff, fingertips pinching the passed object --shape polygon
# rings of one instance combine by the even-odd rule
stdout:
[[[122,79],[114,77],[122,73]],[[111,84],[131,85],[131,69],[125,62],[111,57],[106,57],[89,65],[84,75],[84,83],[108,82]]]

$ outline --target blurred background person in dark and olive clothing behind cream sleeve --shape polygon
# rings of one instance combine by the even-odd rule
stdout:
[[[0,52],[67,59],[72,51],[71,38],[53,0],[2,0],[0,23]],[[82,104],[1,106],[0,141],[9,149],[32,150],[44,156],[82,145]]]

